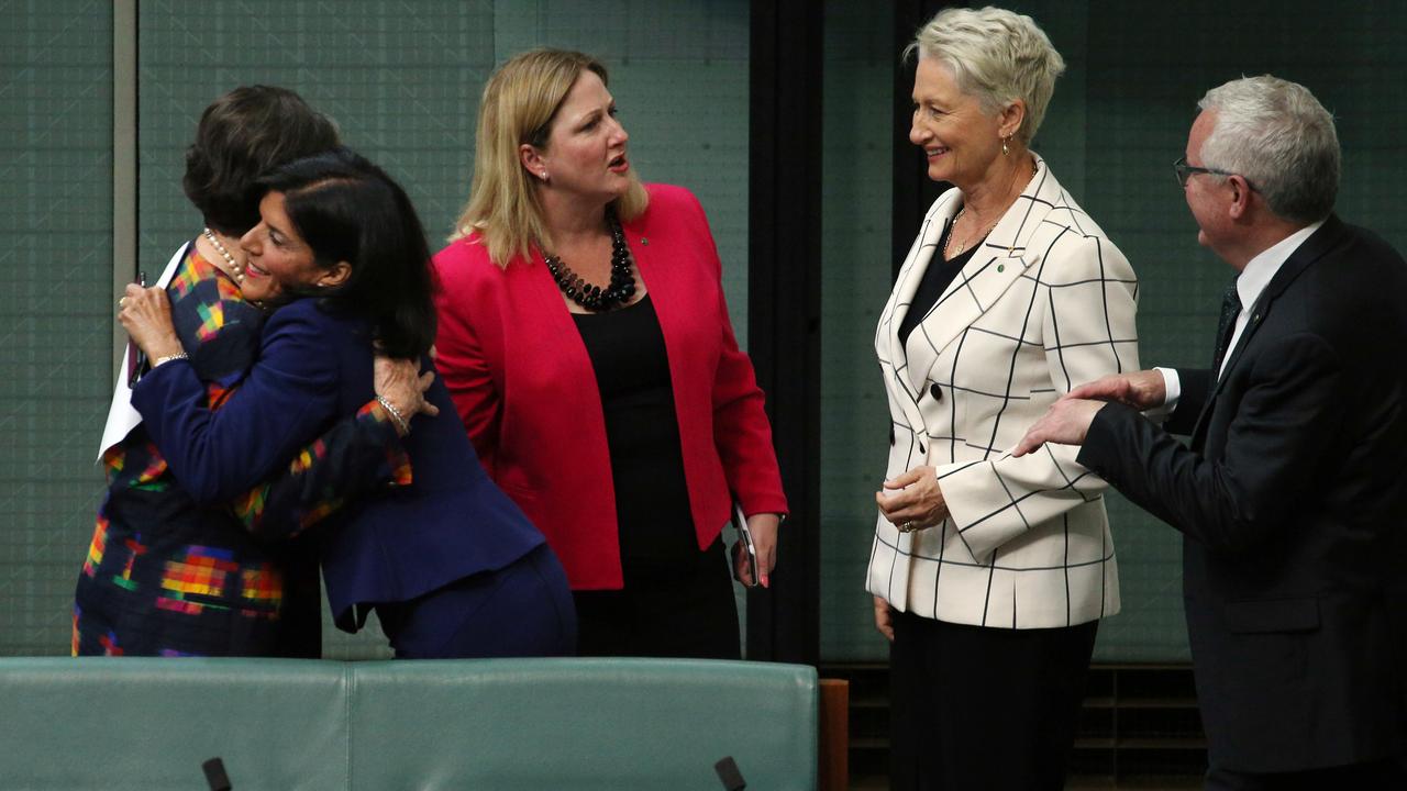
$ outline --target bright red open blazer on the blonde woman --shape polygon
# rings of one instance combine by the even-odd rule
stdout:
[[[787,512],[753,365],[727,318],[718,248],[698,200],[647,186],[625,224],[660,317],[699,548],[736,497],[749,515]],[[557,284],[535,253],[507,269],[477,234],[435,256],[435,365],[490,477],[547,536],[571,587],[623,584],[601,391]]]

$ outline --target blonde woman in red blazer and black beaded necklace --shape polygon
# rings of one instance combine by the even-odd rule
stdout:
[[[469,205],[435,256],[436,365],[567,569],[580,653],[737,657],[720,531],[737,501],[767,584],[787,511],[771,428],[704,210],[640,184],[615,115],[580,52],[490,77]]]

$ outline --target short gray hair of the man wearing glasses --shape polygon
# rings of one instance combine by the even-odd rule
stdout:
[[[1338,134],[1307,87],[1271,75],[1241,77],[1209,90],[1197,107],[1216,111],[1203,166],[1241,175],[1292,222],[1318,222],[1334,210]]]

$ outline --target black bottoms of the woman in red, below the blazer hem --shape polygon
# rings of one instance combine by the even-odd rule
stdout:
[[[573,591],[580,656],[739,659],[723,539],[670,560],[628,560],[625,588]]]

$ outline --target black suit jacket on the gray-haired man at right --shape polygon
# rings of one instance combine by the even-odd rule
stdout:
[[[1407,263],[1330,217],[1251,312],[1166,428],[1109,404],[1079,462],[1186,536],[1214,766],[1380,759],[1407,738]]]

